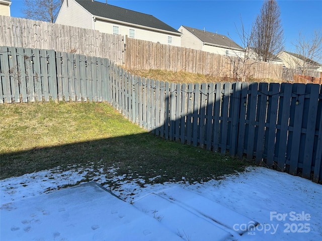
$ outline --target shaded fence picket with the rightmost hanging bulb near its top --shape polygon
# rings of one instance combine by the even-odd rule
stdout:
[[[301,131],[302,131],[302,118],[303,118],[303,107],[304,107],[304,95],[305,95],[305,84],[293,84],[293,93],[296,93],[296,99],[292,98],[292,103],[295,101],[294,106],[294,121],[293,131],[290,135],[291,153],[290,153],[290,170],[289,173],[292,175],[297,174],[297,163],[299,157]],[[292,107],[291,103],[291,107]],[[291,123],[291,119],[290,119]]]

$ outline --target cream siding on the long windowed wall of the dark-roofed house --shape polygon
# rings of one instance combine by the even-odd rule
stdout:
[[[119,34],[123,36],[129,36],[130,29],[133,29],[135,32],[135,39],[141,39],[145,41],[151,41],[154,43],[161,43],[168,45],[168,37],[170,36],[169,33],[161,33],[152,30],[146,30],[143,28],[136,28],[133,26],[127,26],[122,24],[116,24],[108,21],[104,21],[101,19],[96,19],[95,22],[95,29],[99,30],[102,33],[113,34],[113,26],[119,27]],[[172,44],[174,46],[181,46],[181,37],[177,35],[173,35],[172,37]]]

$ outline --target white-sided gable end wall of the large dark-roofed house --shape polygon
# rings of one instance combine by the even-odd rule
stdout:
[[[73,0],[68,0],[67,7],[67,1],[64,0],[55,23],[93,29],[93,16]]]

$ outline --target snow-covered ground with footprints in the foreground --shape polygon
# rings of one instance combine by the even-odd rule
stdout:
[[[140,177],[98,172],[93,180],[118,182],[112,192],[126,202],[93,182],[58,190],[86,174],[52,169],[2,180],[0,239],[322,239],[322,185],[286,173],[250,167],[222,180],[142,188]]]

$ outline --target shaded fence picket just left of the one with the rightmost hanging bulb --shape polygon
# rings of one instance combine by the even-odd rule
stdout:
[[[288,138],[288,121],[290,116],[290,100],[292,94],[292,84],[281,84],[281,97],[279,102],[278,112],[278,128],[276,133],[276,154],[278,170],[284,170],[285,153]]]

